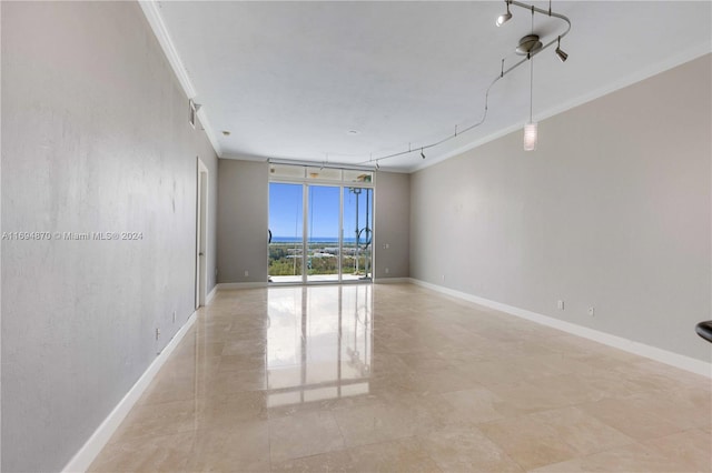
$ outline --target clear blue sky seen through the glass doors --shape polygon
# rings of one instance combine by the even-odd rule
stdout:
[[[309,234],[314,238],[338,238],[338,187],[308,185]],[[269,229],[273,238],[301,236],[303,184],[269,183]],[[364,189],[358,195],[358,228],[366,227],[366,198],[373,205],[373,190]],[[344,238],[353,239],[356,230],[357,197],[344,188]],[[369,211],[373,221],[373,211]],[[373,225],[369,225],[373,227]],[[363,238],[363,236],[362,236]]]

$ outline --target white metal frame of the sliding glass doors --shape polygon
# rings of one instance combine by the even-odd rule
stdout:
[[[318,178],[309,178],[307,177],[308,171],[312,169],[314,170],[315,168],[309,168],[308,165],[301,165],[301,164],[279,164],[280,167],[284,165],[288,165],[291,168],[304,168],[304,174],[301,178],[296,177],[296,175],[289,175],[289,177],[269,177],[269,182],[268,184],[274,183],[281,183],[281,184],[296,184],[296,185],[301,185],[301,218],[303,218],[303,224],[301,224],[301,281],[288,281],[288,282],[279,282],[279,281],[269,281],[270,285],[300,285],[300,284],[362,284],[362,283],[373,283],[374,281],[374,275],[375,275],[375,252],[373,251],[373,235],[375,235],[375,212],[374,209],[376,207],[376,185],[375,185],[375,172],[370,171],[370,170],[349,170],[349,169],[337,169],[337,168],[329,168],[330,171],[338,171],[339,172],[339,178],[338,180],[336,179],[318,179]],[[270,164],[270,167],[274,167],[273,164]],[[273,168],[274,169],[274,168]],[[319,168],[316,168],[319,169]],[[344,171],[362,171],[362,172],[367,172],[370,173],[370,180],[367,182],[358,182],[358,181],[346,181],[345,178],[345,172]],[[309,281],[309,270],[307,266],[307,259],[308,259],[308,250],[309,250],[309,214],[310,214],[310,205],[309,205],[309,187],[330,187],[330,188],[337,188],[338,189],[338,193],[339,193],[339,215],[338,215],[338,224],[339,224],[339,229],[338,229],[338,263],[337,263],[337,268],[338,268],[338,278],[336,278],[335,280],[326,280],[326,281]],[[364,280],[344,280],[344,268],[343,268],[343,251],[344,251],[344,190],[345,189],[352,189],[352,188],[362,188],[362,189],[370,189],[372,190],[372,199],[370,199],[370,209],[369,209],[369,213],[370,213],[370,222],[368,222],[368,224],[370,224],[370,232],[372,232],[372,243],[370,243],[370,278],[368,279],[364,279]],[[269,211],[269,204],[267,205],[267,209]],[[269,215],[267,215],[267,222],[269,225]],[[269,268],[269,244],[267,245],[268,250],[267,250],[267,268]],[[269,272],[269,270],[268,270]]]

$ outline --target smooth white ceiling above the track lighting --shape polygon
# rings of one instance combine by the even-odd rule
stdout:
[[[380,165],[414,170],[528,118],[527,63],[492,88],[482,125],[419,158],[421,147],[478,122],[502,59],[521,59],[514,47],[532,31],[532,16],[512,7],[512,21],[495,27],[503,1],[157,6],[224,158],[356,164],[411,147],[417,152]],[[535,57],[534,120],[712,50],[706,1],[552,7],[571,19],[562,41],[570,57],[560,62],[554,48]],[[561,20],[534,18],[544,42],[564,30]]]

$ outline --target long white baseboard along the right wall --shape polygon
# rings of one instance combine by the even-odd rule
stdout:
[[[540,313],[527,311],[525,309],[520,309],[513,305],[503,304],[501,302],[491,301],[488,299],[479,298],[477,295],[468,294],[466,292],[455,291],[453,289],[443,288],[442,285],[432,284],[429,282],[421,281],[413,278],[411,278],[409,280],[413,284],[432,289],[433,291],[437,291],[443,294],[447,294],[454,298],[463,299],[465,301],[474,302],[476,304],[484,305],[486,308],[496,309],[498,311],[508,313],[511,315],[526,319],[532,322],[541,323],[542,325],[551,326],[551,328],[561,330],[563,332],[578,335],[584,339],[593,340],[594,342],[603,343],[605,345],[613,346],[619,350],[623,350],[636,355],[645,356],[651,360],[655,360],[661,363],[669,364],[671,366],[690,371],[692,373],[712,378],[712,363],[706,363],[702,360],[696,360],[690,356],[681,355],[679,353],[673,353],[666,350],[659,349],[656,346],[651,346],[644,343],[635,342],[633,340],[624,339],[622,336],[612,335],[610,333],[600,332],[597,330],[589,329],[586,326],[576,325],[575,323],[565,322],[563,320],[554,319],[548,315],[542,315]]]

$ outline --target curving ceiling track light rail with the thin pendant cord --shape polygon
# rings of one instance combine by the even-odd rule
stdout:
[[[533,59],[534,59],[534,57],[536,54],[538,54],[540,52],[544,51],[545,49],[547,49],[548,47],[551,47],[555,42],[561,41],[561,38],[564,38],[566,34],[568,34],[568,32],[571,31],[571,20],[567,17],[565,17],[565,16],[563,16],[561,13],[553,12],[551,10],[551,4],[548,7],[548,10],[543,10],[541,8],[537,8],[537,7],[534,7],[534,6],[531,6],[531,4],[526,4],[526,3],[522,3],[522,2],[518,2],[516,0],[506,0],[506,1],[507,1],[507,4],[514,4],[516,7],[525,8],[527,10],[532,11],[532,31],[534,30],[534,12],[546,14],[547,17],[558,18],[560,20],[564,20],[566,22],[566,30],[563,33],[557,34],[553,40],[551,40],[550,42],[544,44],[541,49],[538,49],[538,50],[536,50],[534,52],[531,52],[527,57],[525,57],[524,59],[520,60],[514,66],[511,66],[508,69],[504,69],[504,61],[505,61],[506,58],[502,59],[502,72],[500,72],[500,74],[492,81],[492,83],[490,83],[490,87],[487,87],[487,90],[485,92],[485,108],[484,108],[484,111],[483,111],[483,114],[482,114],[482,119],[477,123],[472,124],[472,125],[469,125],[469,127],[467,127],[467,128],[465,128],[463,130],[457,130],[456,129],[455,133],[448,134],[447,137],[443,138],[439,141],[435,141],[433,143],[425,144],[423,147],[416,148],[415,151],[423,152],[424,150],[428,150],[431,148],[435,148],[437,145],[443,144],[446,141],[452,140],[453,138],[455,138],[455,137],[457,137],[459,134],[466,133],[469,130],[473,130],[473,129],[479,127],[481,124],[483,124],[485,122],[486,118],[487,118],[487,110],[488,110],[488,107],[490,107],[490,91],[492,90],[492,87],[495,83],[497,83],[497,81],[500,79],[504,78],[506,74],[508,74],[510,72],[512,72],[513,70],[515,70],[516,68],[518,68],[520,66],[522,66],[526,61],[532,61],[532,68],[531,68],[531,71],[530,71],[530,74],[531,74],[531,78],[532,78],[532,80],[530,81],[530,122],[532,121],[532,90],[533,90],[532,82],[534,81],[534,61],[533,61]],[[396,157],[402,157],[402,155],[405,155],[405,154],[409,154],[412,152],[414,152],[414,150],[412,150],[411,147],[408,147],[407,151],[400,151],[400,152],[393,153],[393,154],[386,154],[386,155],[383,155],[383,157],[376,158],[376,159],[372,158],[370,160],[359,162],[358,165],[373,163],[373,161],[376,161],[376,163],[378,163],[378,161],[382,161],[382,160],[385,160],[385,159],[390,159],[390,158],[396,158]]]

